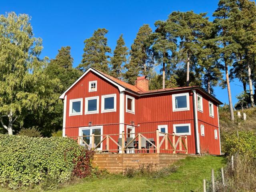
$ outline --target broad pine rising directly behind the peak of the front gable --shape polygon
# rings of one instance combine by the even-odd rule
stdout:
[[[107,45],[108,39],[105,35],[108,30],[105,28],[99,28],[95,30],[92,37],[84,41],[84,54],[82,55],[81,64],[78,65],[80,70],[87,70],[89,67],[95,68],[102,72],[108,73],[108,58],[106,55],[111,52],[110,47]]]

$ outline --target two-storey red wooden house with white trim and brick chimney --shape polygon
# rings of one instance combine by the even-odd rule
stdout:
[[[135,86],[89,68],[61,96],[64,100],[63,136],[105,135],[118,142],[147,132],[156,141],[164,133],[187,136],[189,154],[221,154],[218,105],[222,104],[198,86],[148,90],[145,76]],[[92,142],[86,137],[87,143]],[[166,139],[167,140],[167,139]],[[109,142],[109,141],[108,141]],[[103,150],[106,142],[98,149]],[[112,142],[109,148],[117,149]],[[117,151],[118,152],[118,151]]]

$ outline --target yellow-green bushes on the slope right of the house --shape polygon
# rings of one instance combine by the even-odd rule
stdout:
[[[224,150],[228,154],[239,154],[256,158],[256,135],[254,132],[239,131],[236,133],[224,134]]]

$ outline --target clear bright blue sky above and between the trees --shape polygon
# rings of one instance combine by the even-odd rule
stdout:
[[[109,30],[107,38],[112,51],[120,34],[130,48],[143,24],[149,24],[154,30],[156,20],[166,20],[168,14],[178,10],[208,12],[213,20],[217,5],[217,0],[5,0],[1,1],[0,14],[11,11],[29,14],[35,36],[43,39],[41,56],[54,58],[61,46],[71,46],[74,66],[77,66],[82,60],[84,40],[97,28]],[[241,85],[237,80],[231,83],[233,104],[237,101],[236,94],[242,91]],[[226,89],[216,87],[214,91],[219,100],[228,103]]]

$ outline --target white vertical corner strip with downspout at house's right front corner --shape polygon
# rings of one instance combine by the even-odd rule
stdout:
[[[200,140],[199,140],[199,132],[198,132],[196,90],[192,90],[192,91],[193,91],[194,132],[195,132],[196,154],[200,154]]]

